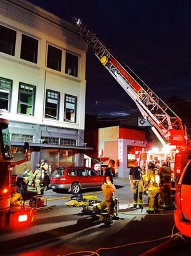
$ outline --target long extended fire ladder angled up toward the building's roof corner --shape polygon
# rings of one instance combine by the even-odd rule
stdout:
[[[172,130],[176,130],[176,136],[179,131],[178,136],[181,137],[181,140],[185,140],[185,131],[180,117],[153,93],[145,82],[132,72],[129,66],[122,66],[108,50],[108,47],[83,24],[81,19],[75,17],[74,22],[78,26],[80,36],[87,41],[88,45],[94,50],[95,56],[134,100],[139,111],[145,119],[148,119],[153,132],[162,144],[169,142]]]

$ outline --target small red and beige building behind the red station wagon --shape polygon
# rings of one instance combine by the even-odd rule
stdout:
[[[116,162],[118,177],[128,177],[134,159],[140,160],[141,152],[146,151],[148,141],[145,130],[123,126],[108,126],[98,129],[98,154],[102,152],[101,162]]]

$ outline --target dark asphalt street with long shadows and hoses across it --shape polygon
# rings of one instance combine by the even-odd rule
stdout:
[[[38,209],[31,226],[22,230],[1,230],[0,255],[64,256],[73,253],[82,256],[96,251],[94,255],[101,256],[190,255],[190,245],[185,245],[179,236],[175,239],[172,236],[178,233],[173,210],[148,215],[146,195],[143,211],[133,210],[127,179],[117,178],[115,185],[121,219],[113,221],[111,227],[88,215],[79,215],[82,207],[66,206],[70,193],[48,190],[45,192],[48,209]],[[83,195],[87,194],[103,199],[101,190],[83,191]]]

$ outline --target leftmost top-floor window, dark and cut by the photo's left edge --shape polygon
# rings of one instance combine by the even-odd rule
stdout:
[[[0,25],[0,52],[15,56],[16,31]]]

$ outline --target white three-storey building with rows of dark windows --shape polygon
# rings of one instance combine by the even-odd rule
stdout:
[[[67,11],[67,10],[66,10]],[[25,0],[0,0],[0,109],[15,157],[83,165],[87,43],[73,24]]]

